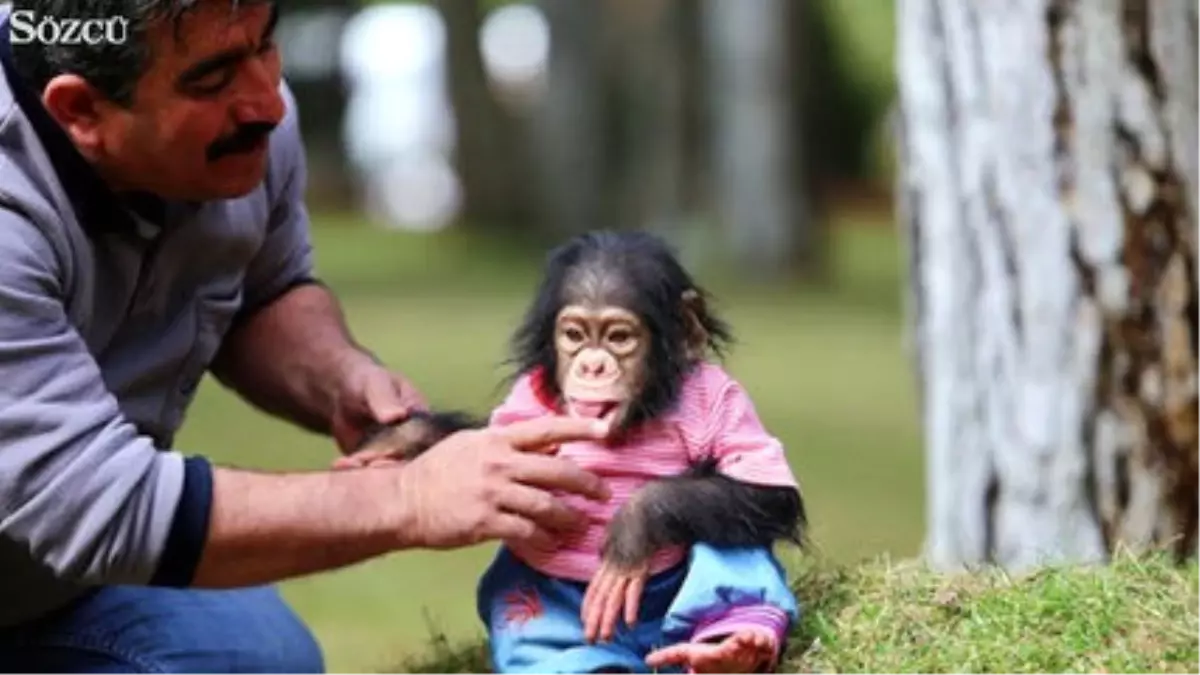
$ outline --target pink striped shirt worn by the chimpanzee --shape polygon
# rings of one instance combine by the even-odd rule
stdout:
[[[523,375],[508,398],[492,412],[491,424],[504,425],[556,414],[553,404],[539,395],[536,377]],[[682,473],[704,458],[718,461],[726,476],[758,485],[797,486],[778,438],[763,429],[750,396],[720,366],[697,365],[686,377],[678,405],[636,430],[619,447],[594,442],[565,443],[558,453],[607,480],[612,498],[604,504],[572,495],[564,501],[587,513],[590,525],[578,534],[539,548],[509,542],[512,554],[535,569],[563,579],[590,581],[600,568],[605,530],[617,509],[635,490],[655,478]],[[660,551],[650,565],[658,573],[680,562],[685,550]]]

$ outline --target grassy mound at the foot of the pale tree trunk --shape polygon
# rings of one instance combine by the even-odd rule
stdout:
[[[934,574],[887,561],[797,571],[806,611],[784,673],[1186,673],[1200,663],[1200,565]],[[487,673],[481,645],[436,639],[389,675]]]

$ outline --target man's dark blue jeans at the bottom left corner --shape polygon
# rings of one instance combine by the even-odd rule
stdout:
[[[317,641],[274,587],[110,586],[0,629],[0,673],[320,675],[324,664]]]

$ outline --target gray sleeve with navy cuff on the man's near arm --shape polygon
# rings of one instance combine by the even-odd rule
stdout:
[[[104,386],[71,324],[56,257],[0,210],[0,538],[65,580],[191,583],[210,467],[162,452]]]

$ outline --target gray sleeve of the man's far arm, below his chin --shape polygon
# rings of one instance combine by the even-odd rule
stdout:
[[[244,301],[239,319],[281,297],[292,288],[317,283],[305,189],[307,160],[300,133],[295,98],[281,84],[287,112],[271,135],[268,195],[271,199],[266,238],[246,270]]]

